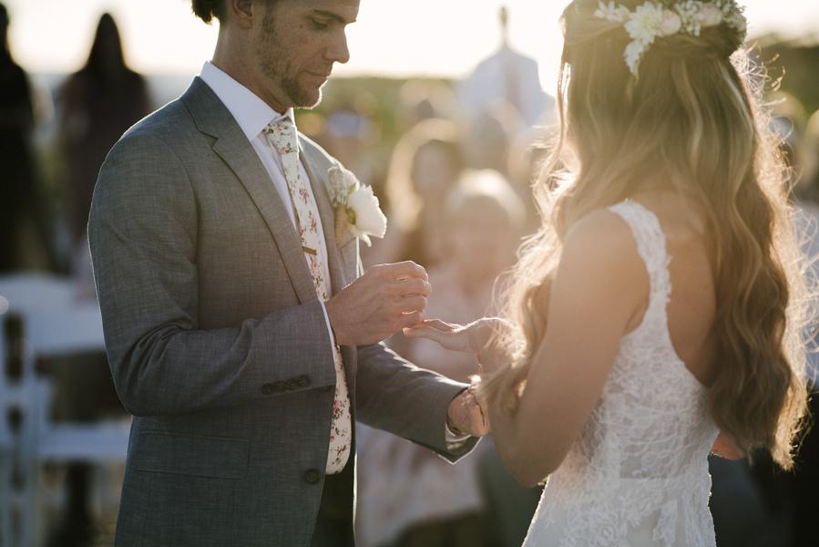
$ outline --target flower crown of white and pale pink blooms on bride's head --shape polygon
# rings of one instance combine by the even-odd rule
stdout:
[[[624,5],[601,1],[594,16],[619,23],[629,33],[631,42],[626,46],[624,57],[631,74],[638,77],[640,61],[658,37],[680,33],[700,36],[703,28],[724,23],[736,30],[740,41],[744,41],[748,22],[742,12],[743,8],[734,0],[649,0],[633,12]]]

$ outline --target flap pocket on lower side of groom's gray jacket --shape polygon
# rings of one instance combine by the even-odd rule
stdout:
[[[242,479],[248,471],[248,439],[142,431],[131,454],[135,470],[215,479]]]

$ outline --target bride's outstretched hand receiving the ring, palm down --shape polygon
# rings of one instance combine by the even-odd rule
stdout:
[[[507,321],[499,317],[484,317],[469,325],[430,319],[404,328],[404,335],[409,338],[427,338],[450,351],[476,354],[484,371],[492,372],[503,362],[508,362],[507,352],[495,347],[495,342],[497,338],[503,340],[511,328]]]

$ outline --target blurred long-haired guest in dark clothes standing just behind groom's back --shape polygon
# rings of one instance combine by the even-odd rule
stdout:
[[[86,66],[68,78],[60,99],[71,270],[77,279],[78,296],[93,298],[86,225],[97,173],[108,150],[149,110],[145,79],[128,68],[111,15],[100,17]],[[81,356],[53,368],[60,418],[92,421],[102,412],[123,412],[105,355]],[[86,464],[73,464],[67,470],[67,511],[52,535],[53,545],[79,546],[92,541],[95,525],[88,509],[90,480],[91,469]]]

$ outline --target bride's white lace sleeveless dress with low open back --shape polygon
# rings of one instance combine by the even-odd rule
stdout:
[[[649,305],[620,340],[598,406],[549,478],[524,545],[714,547],[708,454],[719,430],[706,388],[671,345],[665,235],[639,203],[609,211],[630,225]]]

